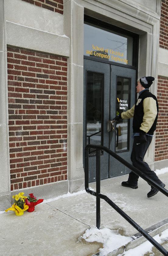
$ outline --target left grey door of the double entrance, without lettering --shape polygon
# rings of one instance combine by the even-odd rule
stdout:
[[[109,147],[107,120],[110,106],[110,65],[84,60],[83,147]],[[109,177],[108,154],[101,154],[101,179]],[[84,159],[84,157],[83,157]],[[89,182],[96,181],[96,151],[89,151]]]

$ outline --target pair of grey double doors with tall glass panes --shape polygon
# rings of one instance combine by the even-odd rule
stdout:
[[[132,120],[108,121],[135,104],[136,71],[84,59],[83,147],[102,145],[131,163]],[[84,152],[84,150],[83,150]],[[101,152],[101,179],[129,173],[120,162]],[[84,156],[83,156],[84,159]],[[96,151],[89,150],[89,182],[96,181]]]

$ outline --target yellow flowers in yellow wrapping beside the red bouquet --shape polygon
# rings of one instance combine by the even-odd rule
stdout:
[[[17,216],[23,215],[23,212],[26,211],[29,208],[29,206],[26,205],[26,203],[25,203],[25,199],[27,197],[24,196],[24,192],[21,192],[21,193],[19,193],[17,195],[13,195],[12,198],[15,199],[15,202],[12,205],[12,207],[10,207],[7,210],[5,210],[5,212],[7,212],[7,211],[15,211],[15,214]]]

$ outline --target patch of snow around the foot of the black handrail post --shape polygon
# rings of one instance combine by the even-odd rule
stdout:
[[[130,236],[121,236],[117,234],[117,231],[110,230],[109,228],[97,229],[90,228],[87,229],[85,234],[81,236],[87,242],[98,242],[103,243],[103,248],[100,248],[100,255],[107,255],[113,250],[126,245],[132,240]],[[135,255],[134,255],[135,256]]]

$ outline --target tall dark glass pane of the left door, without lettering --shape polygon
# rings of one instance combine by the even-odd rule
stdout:
[[[86,144],[102,145],[103,74],[87,71],[86,87]]]

